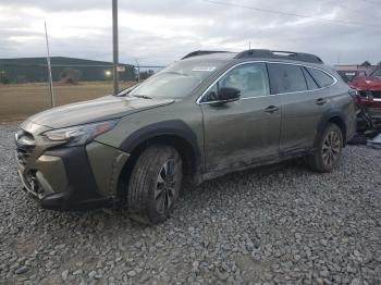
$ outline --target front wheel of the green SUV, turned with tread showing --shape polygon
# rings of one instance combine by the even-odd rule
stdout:
[[[168,219],[182,178],[182,159],[173,147],[148,147],[137,159],[130,177],[127,207],[132,219],[147,224]]]

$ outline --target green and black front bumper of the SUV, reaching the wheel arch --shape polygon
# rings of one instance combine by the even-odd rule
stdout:
[[[30,149],[16,145],[21,182],[42,208],[89,210],[115,200],[127,153],[97,141],[81,147],[48,147],[36,141]]]

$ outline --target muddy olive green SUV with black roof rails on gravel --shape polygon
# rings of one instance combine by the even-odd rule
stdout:
[[[195,51],[138,86],[30,116],[15,134],[24,188],[46,209],[126,206],[165,220],[184,185],[305,157],[331,172],[354,98],[314,54]]]

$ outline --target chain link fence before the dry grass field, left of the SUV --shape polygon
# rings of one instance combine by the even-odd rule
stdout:
[[[112,64],[71,58],[51,58],[56,107],[112,94]],[[119,65],[120,89],[163,66]],[[45,58],[0,60],[0,121],[19,121],[50,109]]]

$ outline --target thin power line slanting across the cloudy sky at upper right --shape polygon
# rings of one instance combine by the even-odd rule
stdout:
[[[237,4],[237,3],[228,3],[228,2],[221,2],[221,1],[214,1],[214,0],[202,0],[202,1],[209,2],[212,4],[237,7],[237,8],[248,9],[248,10],[255,10],[255,11],[259,11],[259,12],[263,12],[263,13],[280,14],[280,15],[286,15],[286,16],[296,16],[296,17],[303,17],[303,18],[312,18],[312,20],[319,20],[319,21],[325,21],[325,22],[339,23],[339,24],[346,24],[346,25],[357,25],[357,26],[367,26],[367,27],[373,26],[373,27],[381,28],[380,25],[364,24],[361,22],[355,22],[355,21],[332,20],[332,18],[327,18],[327,17],[308,16],[308,15],[303,15],[303,14],[297,14],[297,13],[292,13],[292,12],[282,12],[282,11],[278,11],[278,10],[255,8],[255,7],[249,7],[249,5],[243,5],[243,4]]]

